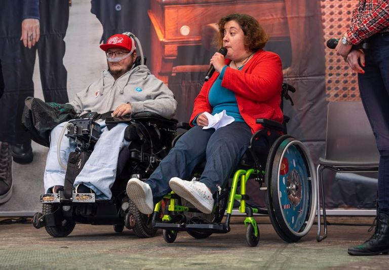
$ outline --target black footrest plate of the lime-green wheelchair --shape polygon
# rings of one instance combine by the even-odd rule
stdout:
[[[168,230],[181,230],[181,231],[196,231],[207,232],[214,234],[226,234],[229,230],[224,223],[203,223],[203,224],[187,224],[187,223],[165,223],[155,222],[154,228],[168,229]]]

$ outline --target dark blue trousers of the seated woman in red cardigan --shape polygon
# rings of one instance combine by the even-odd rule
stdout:
[[[216,131],[199,126],[188,130],[145,181],[151,187],[154,204],[171,191],[170,178],[190,180],[196,165],[205,160],[200,182],[212,193],[216,192],[217,185],[223,186],[238,166],[251,136],[251,129],[245,122],[232,122]]]

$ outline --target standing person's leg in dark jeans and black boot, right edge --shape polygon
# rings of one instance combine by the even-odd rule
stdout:
[[[358,74],[358,83],[380,153],[377,227],[368,241],[348,249],[351,255],[389,251],[389,34],[376,34],[369,39],[368,46],[365,73]]]

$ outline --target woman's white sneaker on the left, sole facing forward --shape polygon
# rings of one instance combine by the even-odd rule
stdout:
[[[134,202],[143,214],[151,214],[154,210],[151,187],[137,178],[131,178],[127,183],[127,196]]]

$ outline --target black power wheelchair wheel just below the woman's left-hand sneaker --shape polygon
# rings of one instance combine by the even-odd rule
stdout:
[[[142,214],[131,200],[129,202],[128,211],[129,214],[126,215],[126,219],[133,219],[135,221],[132,229],[136,236],[140,238],[155,236],[157,229],[154,229],[151,225],[152,214]]]

